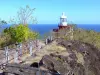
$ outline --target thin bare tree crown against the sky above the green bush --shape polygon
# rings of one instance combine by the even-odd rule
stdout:
[[[28,5],[26,5],[25,8],[20,8],[17,12],[17,17],[10,18],[10,22],[13,24],[29,24],[29,23],[37,23],[37,19],[33,17],[33,12],[35,8],[30,8]]]

